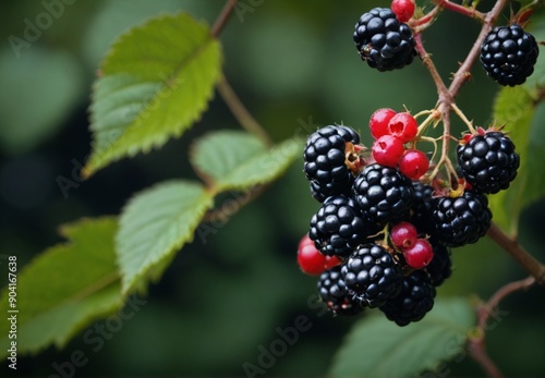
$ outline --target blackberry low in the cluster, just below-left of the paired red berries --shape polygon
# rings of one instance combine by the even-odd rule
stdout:
[[[364,244],[341,265],[342,279],[354,298],[370,307],[398,295],[403,273],[400,265],[378,244]]]

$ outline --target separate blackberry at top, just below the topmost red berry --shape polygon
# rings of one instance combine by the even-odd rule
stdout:
[[[364,13],[355,24],[353,39],[360,58],[383,72],[411,64],[416,54],[411,28],[387,8]]]

